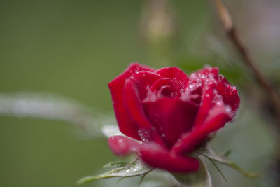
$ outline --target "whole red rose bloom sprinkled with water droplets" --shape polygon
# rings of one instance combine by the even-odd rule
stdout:
[[[172,172],[199,169],[191,153],[232,120],[239,108],[235,86],[205,67],[188,77],[177,67],[130,64],[109,83],[118,126],[109,138],[116,155],[136,152],[148,165]]]

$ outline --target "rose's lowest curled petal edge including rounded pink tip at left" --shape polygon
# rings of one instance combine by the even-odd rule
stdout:
[[[141,144],[128,137],[114,136],[109,138],[109,146],[116,155],[137,153],[148,165],[172,172],[191,172],[200,168],[197,159],[176,155],[156,143]]]

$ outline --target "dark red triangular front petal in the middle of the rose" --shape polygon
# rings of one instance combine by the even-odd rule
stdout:
[[[167,148],[171,148],[181,134],[191,130],[198,109],[193,102],[176,98],[146,101],[143,106],[146,116],[165,141]]]

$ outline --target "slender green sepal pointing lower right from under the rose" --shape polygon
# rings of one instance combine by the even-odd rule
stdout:
[[[228,158],[225,158],[223,156],[220,156],[214,151],[214,148],[210,146],[210,144],[207,144],[204,148],[201,148],[200,150],[196,151],[198,154],[203,155],[204,157],[214,160],[216,162],[219,162],[223,165],[228,165],[229,167],[232,167],[232,169],[236,169],[241,174],[244,174],[244,176],[249,178],[255,178],[258,177],[259,174],[257,172],[247,172],[246,170],[242,169],[238,165],[235,164],[235,162],[232,162],[231,160],[228,160]]]

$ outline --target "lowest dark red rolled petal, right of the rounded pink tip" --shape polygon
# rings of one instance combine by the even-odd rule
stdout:
[[[139,156],[148,165],[172,172],[196,171],[200,167],[200,163],[195,158],[176,155],[153,143],[142,145]]]

